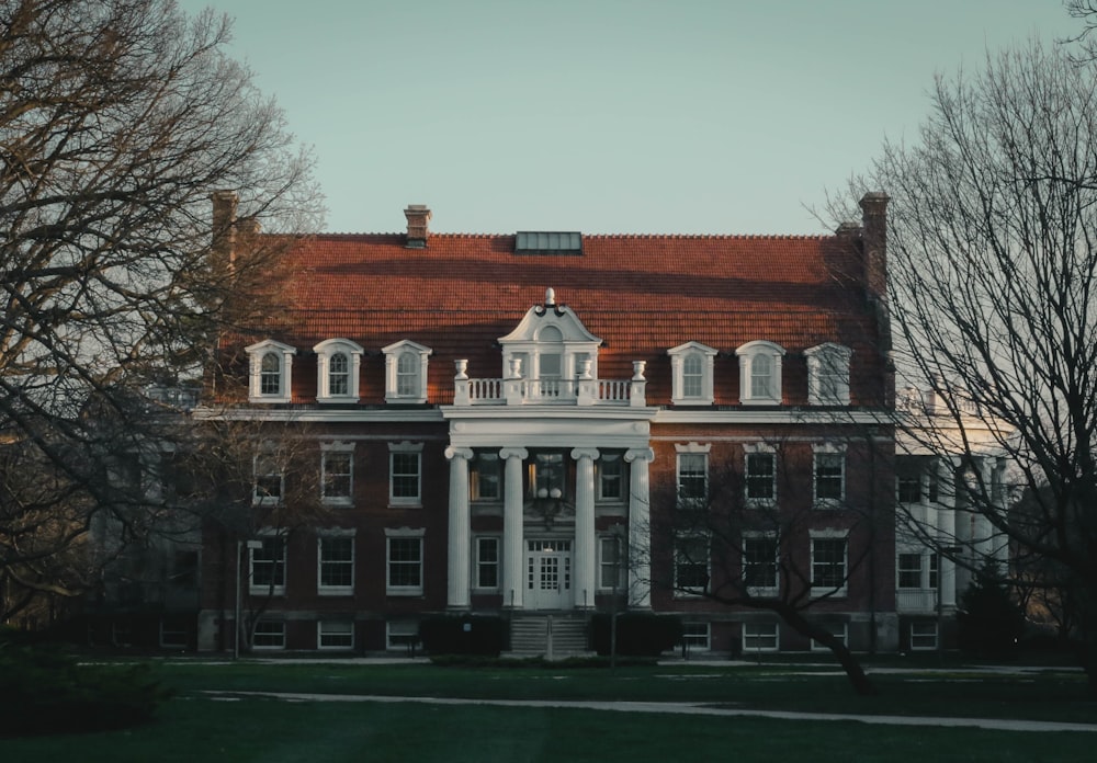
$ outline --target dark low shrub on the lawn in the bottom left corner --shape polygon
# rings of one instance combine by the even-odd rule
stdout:
[[[125,728],[168,696],[147,665],[82,665],[56,645],[0,631],[0,736]]]

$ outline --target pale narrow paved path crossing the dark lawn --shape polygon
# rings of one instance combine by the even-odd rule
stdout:
[[[785,720],[851,720],[861,724],[891,726],[950,726],[993,729],[996,731],[1089,731],[1097,725],[1063,724],[1044,720],[1006,720],[999,718],[947,718],[840,715],[837,713],[785,713],[782,710],[748,710],[681,702],[568,702],[565,699],[462,699],[455,697],[389,697],[371,694],[295,694],[282,692],[206,692],[219,698],[260,696],[289,702],[385,702],[426,705],[491,705],[496,707],[552,707],[617,713],[663,713],[671,715],[708,715],[724,717],[782,718]]]

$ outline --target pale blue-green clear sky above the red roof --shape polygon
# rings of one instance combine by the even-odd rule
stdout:
[[[819,234],[937,71],[1062,0],[179,0],[317,157],[325,230]]]

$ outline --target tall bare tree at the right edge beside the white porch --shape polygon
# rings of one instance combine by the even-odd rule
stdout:
[[[1097,692],[1094,64],[1033,43],[938,77],[931,101],[917,140],[886,144],[867,179],[893,200],[896,366],[938,403],[937,425],[904,434],[963,470],[964,512],[999,538],[980,539],[986,554],[1008,543],[1068,573]],[[1008,480],[979,467],[987,454]],[[1027,490],[1025,512],[1006,511],[1007,488]]]

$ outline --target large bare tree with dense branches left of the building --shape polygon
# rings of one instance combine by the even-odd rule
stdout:
[[[181,430],[147,390],[200,376],[246,318],[229,305],[261,309],[272,252],[248,232],[317,214],[309,156],[228,39],[226,19],[170,0],[0,8],[0,577],[24,592],[94,582],[89,555],[52,561],[98,516],[126,542],[157,529],[126,476]],[[226,187],[252,223],[215,219],[215,248]]]

